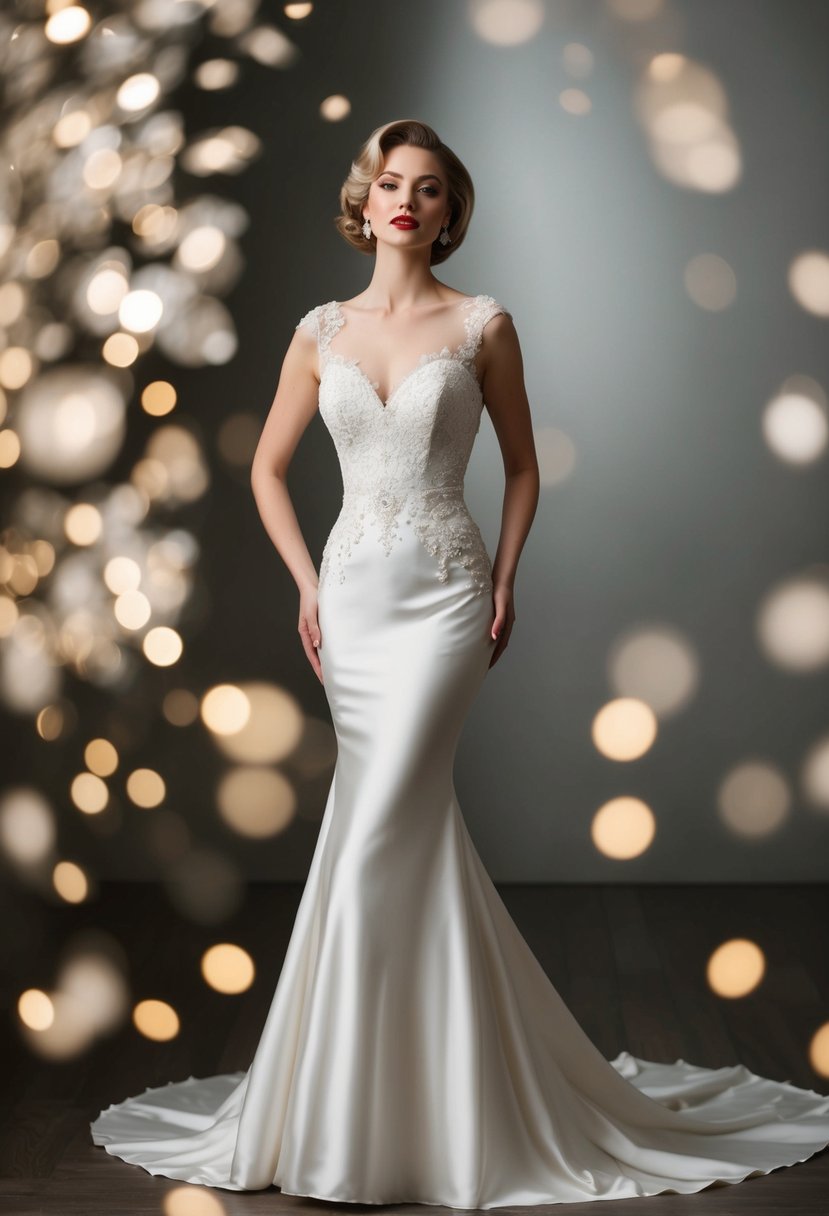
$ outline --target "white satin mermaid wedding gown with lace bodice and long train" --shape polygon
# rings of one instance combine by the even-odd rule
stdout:
[[[343,474],[318,586],[338,758],[250,1066],[147,1088],[90,1125],[150,1173],[487,1209],[692,1193],[829,1143],[829,1097],[813,1090],[740,1064],[608,1062],[462,818],[453,756],[495,646],[463,479],[481,334],[504,311],[490,295],[459,302],[455,332],[444,315],[434,353],[385,401],[339,349],[337,300],[299,322],[318,344]]]

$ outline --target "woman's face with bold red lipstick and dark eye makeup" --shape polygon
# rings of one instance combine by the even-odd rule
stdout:
[[[383,171],[372,181],[362,209],[378,241],[399,248],[432,246],[449,224],[451,208],[446,170],[434,152],[397,145],[385,157]],[[394,224],[408,215],[416,227]]]

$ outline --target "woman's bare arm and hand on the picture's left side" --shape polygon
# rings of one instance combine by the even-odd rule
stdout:
[[[287,486],[288,466],[316,413],[318,389],[316,339],[305,327],[298,328],[286,351],[276,395],[254,452],[250,486],[265,530],[299,589],[299,634],[322,682],[316,652],[322,641],[317,624],[318,576]]]

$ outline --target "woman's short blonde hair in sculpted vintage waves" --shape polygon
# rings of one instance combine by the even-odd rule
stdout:
[[[377,237],[373,232],[368,240],[362,235],[362,208],[366,206],[372,181],[383,173],[389,151],[401,143],[434,152],[446,175],[451,209],[449,235],[452,243],[441,244],[438,238],[433,241],[429,264],[434,266],[439,261],[445,261],[463,243],[475,206],[475,190],[463,162],[442,142],[432,126],[414,118],[400,118],[371,133],[351,162],[349,175],[342,185],[340,214],[334,219],[334,224],[339,235],[353,248],[360,253],[374,253]]]

